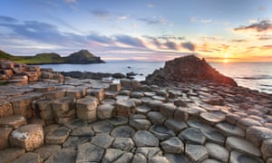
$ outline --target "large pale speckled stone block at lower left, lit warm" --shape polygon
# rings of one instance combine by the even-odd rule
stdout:
[[[12,132],[9,142],[13,147],[33,151],[44,145],[44,129],[41,125],[24,125]]]

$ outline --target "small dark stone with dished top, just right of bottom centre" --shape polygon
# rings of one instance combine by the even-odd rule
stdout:
[[[175,133],[172,130],[164,126],[153,125],[151,126],[150,131],[155,137],[160,140],[169,139],[170,137],[175,136]]]

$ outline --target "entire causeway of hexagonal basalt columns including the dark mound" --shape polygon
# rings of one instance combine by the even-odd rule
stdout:
[[[272,162],[272,95],[195,56],[146,83],[10,61],[0,80],[0,162]]]

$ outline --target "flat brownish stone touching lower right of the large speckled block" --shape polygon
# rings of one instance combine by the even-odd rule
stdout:
[[[34,152],[38,153],[43,160],[50,158],[54,153],[62,150],[59,145],[45,145],[40,149],[35,149]]]

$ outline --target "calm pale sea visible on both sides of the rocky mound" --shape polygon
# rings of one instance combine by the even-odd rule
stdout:
[[[220,73],[233,78],[239,86],[272,94],[272,62],[209,62]],[[106,61],[96,64],[44,64],[55,72],[134,72],[135,80],[144,81],[148,74],[164,66],[164,62]]]

